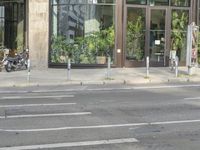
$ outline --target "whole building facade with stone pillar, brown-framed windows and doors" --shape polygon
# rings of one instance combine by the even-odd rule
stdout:
[[[0,44],[36,68],[167,66],[171,50],[184,65],[199,20],[198,0],[1,0]]]

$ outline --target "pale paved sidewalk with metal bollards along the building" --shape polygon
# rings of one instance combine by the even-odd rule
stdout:
[[[191,76],[187,75],[186,67],[179,67],[179,75],[175,77],[174,71],[169,67],[150,68],[149,77],[146,77],[146,68],[112,68],[107,78],[107,69],[72,69],[71,79],[67,78],[67,69],[46,69],[30,72],[15,71],[0,72],[0,87],[11,86],[43,86],[67,84],[149,84],[169,82],[200,82],[200,68],[195,69]]]

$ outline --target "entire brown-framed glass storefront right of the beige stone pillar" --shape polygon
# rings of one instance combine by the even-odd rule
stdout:
[[[70,56],[82,67],[104,66],[108,56],[117,67],[145,66],[147,56],[151,66],[167,66],[171,50],[184,64],[196,6],[195,0],[53,0],[49,66],[65,65]]]

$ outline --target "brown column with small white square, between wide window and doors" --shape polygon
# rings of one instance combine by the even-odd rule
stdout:
[[[116,1],[116,66],[123,67],[123,0]]]

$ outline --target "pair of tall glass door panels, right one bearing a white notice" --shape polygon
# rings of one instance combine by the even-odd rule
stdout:
[[[166,65],[165,7],[128,6],[125,9],[125,66],[141,67],[150,58],[150,66]]]

